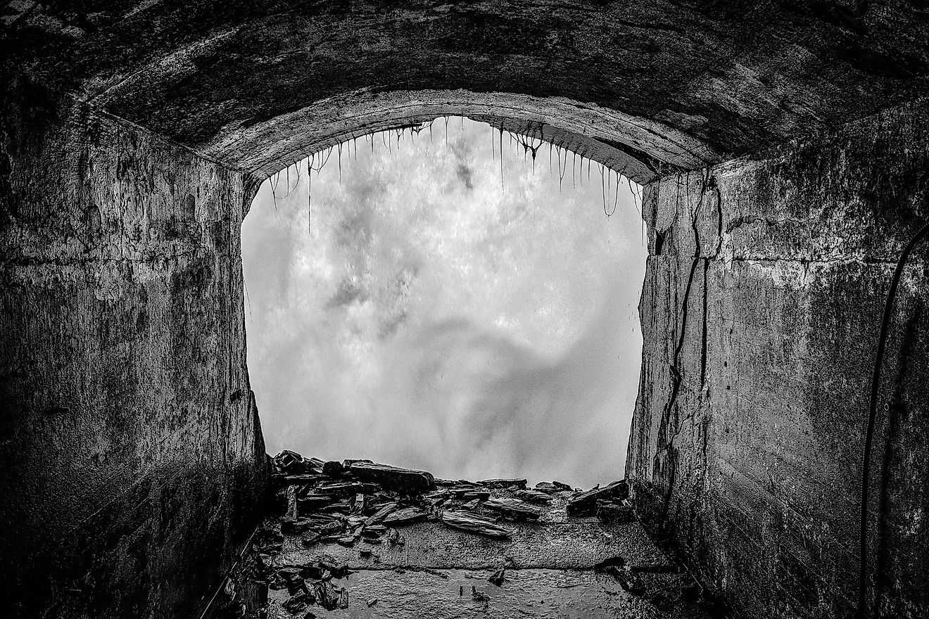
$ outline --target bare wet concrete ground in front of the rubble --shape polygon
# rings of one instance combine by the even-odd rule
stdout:
[[[512,495],[506,488],[492,488],[491,492],[492,496]],[[405,540],[396,546],[360,539],[352,547],[316,543],[307,548],[303,534],[284,533],[276,552],[260,555],[255,548],[246,551],[235,584],[230,582],[223,594],[232,593],[229,600],[235,600],[227,605],[226,616],[724,616],[701,598],[700,587],[649,539],[640,522],[569,516],[565,507],[570,496],[554,495],[550,505],[542,506],[538,522],[501,520],[499,523],[510,531],[509,539],[451,529],[438,520],[396,527]],[[492,514],[489,510],[483,513]],[[263,529],[262,535],[277,535],[281,522],[268,520]],[[352,573],[331,581],[344,587],[347,608],[326,611],[319,604],[293,602],[288,608],[294,591],[269,588],[268,572],[312,564],[321,555],[328,556],[327,561],[347,565]],[[632,574],[633,586],[609,568],[604,571],[604,562],[628,566],[625,574]],[[268,570],[259,574],[261,570],[256,572],[255,565],[268,566]],[[504,581],[498,587],[489,578],[500,568],[505,568]]]

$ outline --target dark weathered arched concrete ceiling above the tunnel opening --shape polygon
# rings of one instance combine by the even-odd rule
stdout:
[[[581,148],[602,138],[597,159],[648,180],[929,86],[929,9],[894,0],[16,0],[3,20],[7,75],[263,174],[335,139],[464,113],[550,124]],[[545,113],[543,97],[557,97]]]

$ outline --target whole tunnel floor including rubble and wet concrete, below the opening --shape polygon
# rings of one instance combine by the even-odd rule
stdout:
[[[624,482],[437,480],[294,452],[272,466],[273,513],[207,616],[721,616],[635,520]]]

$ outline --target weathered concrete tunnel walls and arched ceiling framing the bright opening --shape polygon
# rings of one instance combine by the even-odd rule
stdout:
[[[2,19],[10,616],[200,616],[267,484],[239,248],[258,182],[446,114],[645,186],[636,509],[737,616],[852,615],[870,364],[929,217],[920,3],[10,2]],[[925,256],[887,340],[874,616],[929,612]]]

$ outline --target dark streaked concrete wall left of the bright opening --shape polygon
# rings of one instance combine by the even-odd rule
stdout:
[[[19,95],[0,119],[0,615],[199,616],[265,474],[239,248],[254,187]]]

